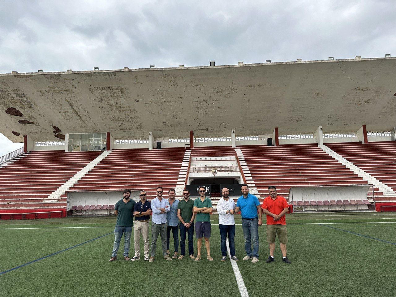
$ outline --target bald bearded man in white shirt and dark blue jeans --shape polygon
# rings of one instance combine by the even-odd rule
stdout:
[[[234,261],[238,261],[238,258],[235,257],[235,220],[234,220],[234,209],[235,202],[234,199],[230,199],[228,196],[230,192],[228,188],[223,188],[221,190],[222,197],[219,202],[217,202],[217,213],[219,213],[219,228],[220,228],[220,238],[221,238],[221,254],[223,257],[221,261],[225,261],[227,257],[227,234],[228,234],[228,243],[230,245],[230,256]]]

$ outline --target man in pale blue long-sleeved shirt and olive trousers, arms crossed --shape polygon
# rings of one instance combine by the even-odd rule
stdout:
[[[148,262],[154,261],[155,252],[157,249],[158,235],[161,236],[162,253],[164,259],[171,261],[172,258],[166,253],[166,213],[170,211],[168,199],[162,198],[162,187],[157,188],[157,197],[151,200],[151,257]]]

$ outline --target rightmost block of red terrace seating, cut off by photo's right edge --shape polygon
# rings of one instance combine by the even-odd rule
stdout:
[[[361,169],[387,190],[378,201],[396,200],[396,141],[325,143],[333,152]]]

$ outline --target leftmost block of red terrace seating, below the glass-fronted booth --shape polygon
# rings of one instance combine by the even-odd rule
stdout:
[[[66,199],[48,196],[66,183],[101,151],[34,151],[0,168],[0,209],[57,209]]]

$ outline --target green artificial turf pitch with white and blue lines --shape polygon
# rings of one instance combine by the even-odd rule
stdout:
[[[237,263],[249,296],[395,295],[396,213],[294,213],[286,222],[291,265],[282,262],[278,243],[275,262],[265,263],[265,226],[259,227],[260,261],[242,261],[244,238],[236,225]],[[115,217],[0,221],[0,296],[240,296],[228,256],[220,261],[216,225],[212,262],[166,261],[158,240],[154,263],[124,261],[122,243],[110,263],[114,224]],[[172,253],[172,238],[170,246]]]

